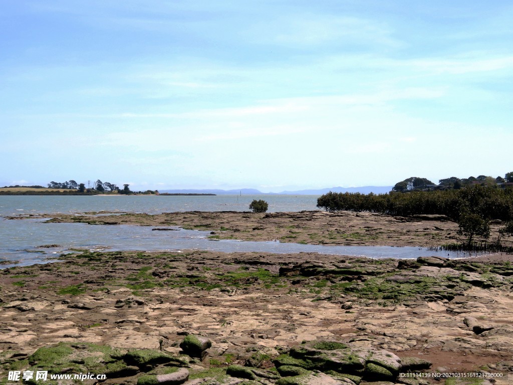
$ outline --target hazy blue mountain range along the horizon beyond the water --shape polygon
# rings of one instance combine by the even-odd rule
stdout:
[[[363,186],[363,187],[331,187],[310,190],[297,190],[297,191],[281,191],[281,192],[261,192],[254,188],[239,188],[235,190],[219,190],[219,189],[181,189],[181,190],[159,190],[160,192],[168,192],[170,194],[216,194],[216,195],[323,195],[326,192],[360,192],[360,194],[385,194],[391,191],[393,186]]]

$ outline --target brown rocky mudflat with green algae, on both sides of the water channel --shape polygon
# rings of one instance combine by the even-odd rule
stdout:
[[[429,246],[458,237],[456,224],[443,218],[369,213],[48,217],[308,243]],[[174,383],[506,384],[512,378],[511,255],[378,260],[84,251],[61,260],[0,272],[2,378],[37,368],[140,384],[183,370],[187,378]],[[186,339],[209,343],[200,343],[198,353]],[[416,371],[424,375],[406,376]],[[458,373],[479,377],[449,377]]]

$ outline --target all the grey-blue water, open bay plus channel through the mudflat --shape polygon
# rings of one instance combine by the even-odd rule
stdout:
[[[248,210],[253,199],[269,202],[269,211],[300,211],[315,209],[317,196],[0,196],[0,215],[38,213],[83,213],[113,211],[132,213],[163,213],[170,211]],[[239,200],[239,202],[238,202]],[[243,202],[244,201],[244,202]],[[468,253],[435,252],[418,247],[392,246],[328,246],[297,243],[214,241],[209,232],[196,230],[152,231],[149,226],[88,225],[84,223],[43,223],[41,219],[0,219],[0,260],[20,261],[20,265],[47,263],[69,248],[106,248],[116,250],[176,251],[202,249],[220,252],[321,253],[365,256],[371,258],[417,258],[438,255],[450,258],[469,256]],[[38,247],[57,244],[58,247]]]

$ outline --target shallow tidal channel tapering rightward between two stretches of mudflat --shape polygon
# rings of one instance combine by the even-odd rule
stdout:
[[[54,260],[69,248],[90,250],[139,250],[177,251],[180,249],[201,249],[219,252],[262,252],[262,253],[320,253],[331,255],[364,256],[371,258],[417,258],[438,255],[440,257],[462,258],[465,253],[436,252],[419,247],[393,246],[330,246],[278,241],[254,242],[236,240],[212,240],[206,231],[185,230],[175,227],[172,231],[152,231],[150,226],[89,225],[85,223],[43,223],[42,220],[9,221],[12,236],[4,258],[21,261],[19,265],[46,263]],[[161,226],[159,226],[162,228]],[[57,244],[57,247],[38,247]],[[9,267],[5,264],[3,267]]]

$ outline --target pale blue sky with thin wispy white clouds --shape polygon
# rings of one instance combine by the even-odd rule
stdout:
[[[0,186],[513,170],[513,3],[3,0]]]

